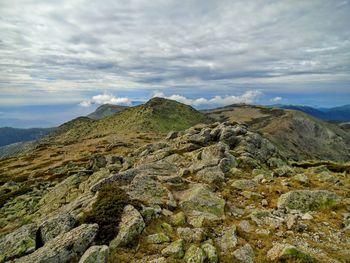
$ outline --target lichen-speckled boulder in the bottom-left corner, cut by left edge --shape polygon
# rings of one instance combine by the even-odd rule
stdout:
[[[0,239],[0,262],[32,253],[35,250],[35,224],[24,225]]]

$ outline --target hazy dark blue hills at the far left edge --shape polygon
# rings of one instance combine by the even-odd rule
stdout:
[[[27,142],[40,139],[52,132],[54,128],[32,128],[32,129],[18,129],[3,127],[0,128],[0,146]]]

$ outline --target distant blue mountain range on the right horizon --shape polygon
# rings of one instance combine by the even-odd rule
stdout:
[[[334,108],[313,108],[298,105],[272,105],[275,108],[298,110],[325,121],[348,122],[350,121],[350,104]]]

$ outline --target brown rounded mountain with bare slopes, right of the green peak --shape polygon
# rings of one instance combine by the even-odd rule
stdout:
[[[250,105],[231,105],[203,112],[218,121],[247,124],[295,160],[350,161],[349,133],[304,112]]]

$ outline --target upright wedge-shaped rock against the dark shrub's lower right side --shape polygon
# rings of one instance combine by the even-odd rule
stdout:
[[[110,247],[125,246],[134,238],[141,234],[145,228],[145,222],[139,211],[132,205],[127,205],[124,208],[122,220],[119,224],[119,233],[110,243]]]

